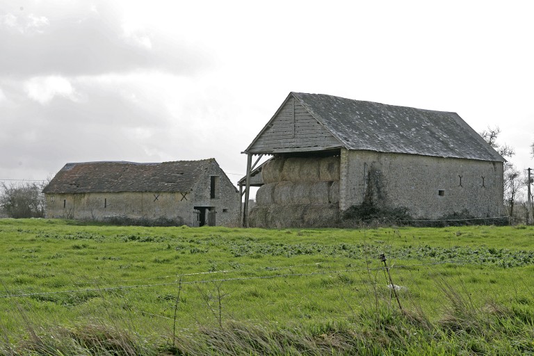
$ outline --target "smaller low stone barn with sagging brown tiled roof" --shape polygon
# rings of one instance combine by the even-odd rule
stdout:
[[[43,193],[47,218],[237,225],[240,207],[215,159],[67,163]]]

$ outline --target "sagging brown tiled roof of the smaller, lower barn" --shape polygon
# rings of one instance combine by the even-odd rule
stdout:
[[[67,163],[43,193],[188,192],[215,159]]]

